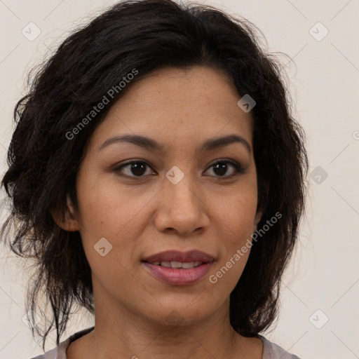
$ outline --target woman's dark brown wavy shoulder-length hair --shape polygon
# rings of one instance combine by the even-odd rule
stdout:
[[[292,118],[283,69],[275,55],[261,49],[256,29],[248,20],[210,6],[123,1],[71,34],[29,77],[29,91],[15,107],[9,168],[1,182],[12,204],[1,236],[9,238],[13,252],[36,262],[27,309],[44,338],[43,346],[52,328],[60,341],[75,304],[94,311],[90,266],[80,233],[60,229],[50,209],[65,216],[67,196],[77,208],[76,173],[96,126],[132,83],[168,66],[221,69],[239,95],[248,94],[256,102],[250,113],[258,209],[263,212],[258,227],[276,212],[282,217],[253,245],[231,292],[230,321],[236,332],[250,337],[276,318],[280,278],[304,212],[308,161],[304,133]],[[128,86],[69,140],[65,134],[133,69],[138,74]],[[10,239],[14,223],[18,225]],[[40,310],[42,291],[52,314],[40,331],[34,313]]]

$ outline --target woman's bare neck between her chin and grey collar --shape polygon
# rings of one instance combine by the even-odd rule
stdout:
[[[150,320],[109,297],[95,296],[95,330],[74,341],[67,358],[262,358],[262,341],[242,337],[231,327],[229,299],[208,318],[175,319],[176,313],[166,323]]]

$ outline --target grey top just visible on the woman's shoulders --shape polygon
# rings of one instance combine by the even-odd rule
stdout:
[[[55,348],[51,349],[50,351],[46,351],[46,353],[38,355],[32,359],[67,359],[66,349],[72,343],[72,341],[79,339],[94,328],[95,327],[90,327],[85,330],[81,330],[80,332],[76,332],[75,334],[72,334],[71,337],[68,337],[65,341],[62,341]],[[280,346],[277,344],[274,344],[266,338],[262,337],[262,335],[258,335],[258,337],[263,341],[262,359],[300,359],[297,357],[297,355],[288,353],[283,348],[280,348]]]

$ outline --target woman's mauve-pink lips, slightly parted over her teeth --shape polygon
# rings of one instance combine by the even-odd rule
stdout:
[[[200,262],[200,264],[194,268],[177,269],[153,264],[155,262]],[[168,250],[151,255],[142,261],[149,273],[161,282],[170,285],[191,285],[198,282],[208,273],[213,262],[214,258],[211,255],[199,250],[189,252]]]

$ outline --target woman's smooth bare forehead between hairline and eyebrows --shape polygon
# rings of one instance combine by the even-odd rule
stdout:
[[[168,147],[229,133],[252,142],[252,116],[238,107],[241,96],[219,70],[168,67],[128,86],[95,130],[95,147],[123,133],[149,135]]]

